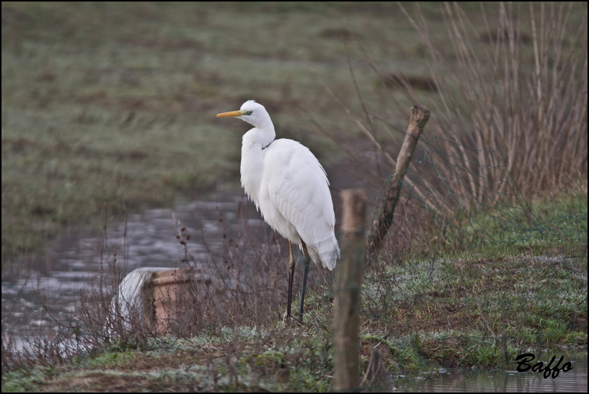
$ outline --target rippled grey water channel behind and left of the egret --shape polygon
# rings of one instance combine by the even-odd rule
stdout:
[[[3,333],[12,335],[21,347],[42,327],[55,326],[54,320],[71,319],[80,294],[88,287],[97,288],[98,272],[108,270],[115,259],[123,274],[139,267],[186,267],[181,262],[184,249],[176,239],[180,226],[191,235],[188,251],[197,262],[210,255],[222,259],[227,241],[244,231],[258,239],[272,234],[242,195],[213,195],[207,201],[181,203],[174,210],[129,215],[126,224],[107,224],[107,231],[98,234],[64,235],[30,269],[3,272]]]

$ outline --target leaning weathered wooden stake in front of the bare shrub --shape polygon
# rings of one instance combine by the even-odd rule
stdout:
[[[413,157],[413,152],[415,151],[419,135],[423,132],[423,126],[428,122],[428,119],[428,110],[418,106],[411,107],[411,119],[409,120],[409,127],[407,128],[407,134],[405,134],[405,140],[401,146],[401,151],[397,157],[395,173],[389,179],[389,186],[380,202],[378,215],[372,223],[372,236],[368,239],[366,244],[368,261],[371,261],[373,257],[375,257],[374,254],[378,254],[386,233],[389,231],[389,228],[391,228],[395,206],[399,201],[399,195],[401,195],[403,178],[405,178],[405,173],[409,168],[409,162],[411,162],[411,158]]]

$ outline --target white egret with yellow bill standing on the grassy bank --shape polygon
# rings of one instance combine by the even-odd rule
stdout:
[[[241,186],[266,223],[289,240],[287,320],[290,320],[292,303],[293,242],[303,250],[305,273],[299,308],[302,322],[309,260],[316,264],[321,262],[323,267],[333,270],[339,257],[333,231],[335,214],[325,170],[306,146],[289,139],[274,139],[274,124],[262,104],[249,100],[239,111],[217,116],[238,117],[254,126],[243,134]]]

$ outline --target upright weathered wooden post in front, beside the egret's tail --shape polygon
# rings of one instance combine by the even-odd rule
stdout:
[[[334,287],[335,389],[358,388],[360,381],[360,285],[365,257],[366,194],[362,189],[341,193],[342,260]]]

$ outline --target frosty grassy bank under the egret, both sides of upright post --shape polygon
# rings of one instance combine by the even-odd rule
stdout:
[[[63,365],[5,372],[2,389],[329,390],[331,297],[315,281],[303,326],[283,327],[280,310],[272,310],[248,326],[211,321],[184,339],[115,341]],[[586,297],[586,255],[473,255],[368,269],[362,374],[378,386],[407,372],[513,370],[519,354],[586,350]],[[371,360],[379,360],[375,372]]]

